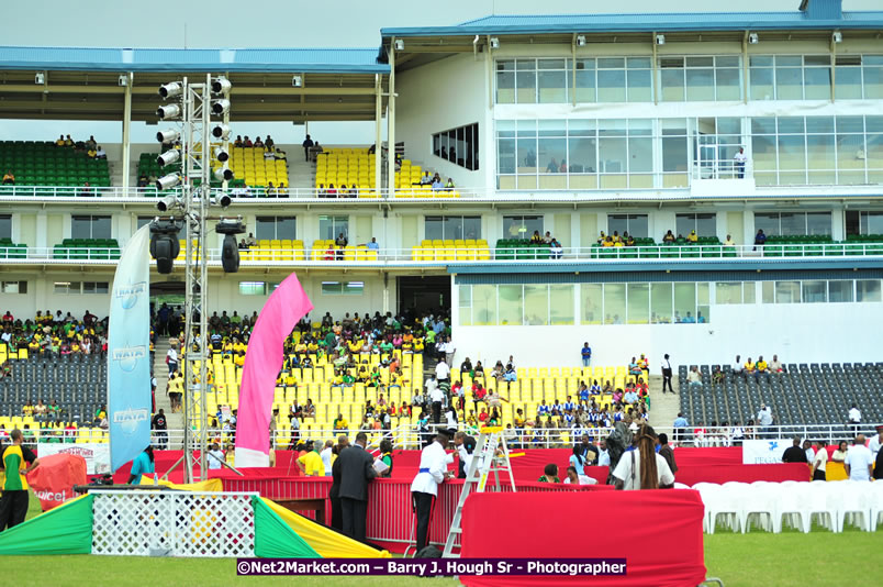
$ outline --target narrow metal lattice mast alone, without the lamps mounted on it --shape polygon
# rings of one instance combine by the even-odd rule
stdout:
[[[209,427],[205,380],[209,357],[206,318],[209,280],[205,221],[211,198],[212,173],[211,75],[205,76],[204,84],[189,84],[185,78],[183,87],[182,197],[187,224],[183,448],[185,483],[193,483],[194,464],[199,465],[200,480],[208,478],[205,455]],[[194,186],[197,179],[199,186]],[[198,452],[195,457],[194,451]]]

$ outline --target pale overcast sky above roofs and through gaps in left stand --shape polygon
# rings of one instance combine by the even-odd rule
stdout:
[[[814,0],[819,1],[819,0]],[[380,29],[450,25],[488,14],[583,14],[586,12],[793,11],[800,0],[29,0],[3,2],[0,44],[97,47],[377,47]],[[211,11],[204,13],[206,8]],[[660,7],[662,10],[660,10]],[[881,0],[843,0],[845,10],[881,10]],[[169,9],[169,10],[164,10]],[[172,12],[177,11],[177,12]],[[235,108],[235,104],[234,104]],[[62,123],[65,124],[65,123]],[[71,123],[65,132],[119,142],[119,123]],[[265,124],[234,132],[266,134]],[[300,142],[290,124],[272,124],[277,142]],[[313,126],[313,125],[311,125]],[[372,142],[373,123],[315,124],[324,143]],[[89,132],[91,131],[91,132]],[[51,140],[59,123],[0,120],[0,139]],[[136,125],[133,141],[148,142],[155,126]]]

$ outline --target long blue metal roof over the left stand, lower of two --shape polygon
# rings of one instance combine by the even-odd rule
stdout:
[[[377,48],[99,48],[0,46],[0,69],[388,74]]]

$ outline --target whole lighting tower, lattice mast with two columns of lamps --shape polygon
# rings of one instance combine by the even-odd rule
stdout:
[[[212,139],[226,143],[230,128],[226,124],[213,124],[212,114],[228,117],[231,84],[224,77],[212,79],[211,74],[204,81],[190,82],[183,78],[180,82],[166,84],[159,88],[159,95],[169,103],[157,111],[160,119],[180,118],[179,130],[157,133],[157,140],[178,140],[172,151],[160,155],[164,160],[180,160],[180,175],[177,180],[165,176],[157,182],[160,189],[180,185],[180,200],[172,213],[182,215],[187,228],[185,237],[185,342],[183,353],[183,464],[185,483],[193,483],[194,465],[199,465],[199,479],[208,478],[206,454],[209,441],[206,376],[209,352],[208,332],[208,231],[209,207],[213,203],[211,182],[213,178],[225,182],[233,179],[227,166],[228,155],[225,149],[213,151]],[[213,99],[214,98],[214,99]],[[174,152],[177,151],[176,155]],[[215,153],[221,163],[214,174],[212,159]],[[219,156],[220,155],[220,156]],[[159,184],[163,182],[160,186]],[[165,202],[165,200],[164,200]],[[221,195],[219,202],[230,203],[230,198]],[[168,204],[164,203],[168,209]],[[238,265],[238,258],[236,258]],[[226,270],[226,267],[225,267]],[[198,455],[193,456],[193,452]]]

